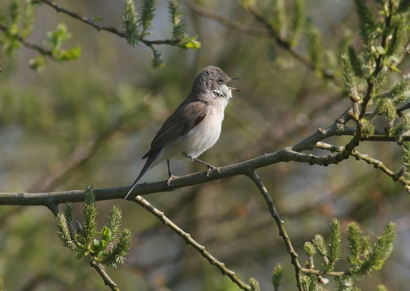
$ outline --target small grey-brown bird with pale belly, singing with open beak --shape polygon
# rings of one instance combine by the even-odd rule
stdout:
[[[163,160],[167,160],[168,185],[174,178],[170,170],[170,159],[190,158],[207,166],[208,173],[213,165],[197,157],[210,149],[218,140],[224,110],[232,98],[232,90],[227,84],[240,78],[230,78],[221,69],[209,66],[195,78],[191,92],[173,114],[165,120],[151,142],[151,149],[142,157],[148,158],[141,172],[132,184],[134,190],[139,179]]]

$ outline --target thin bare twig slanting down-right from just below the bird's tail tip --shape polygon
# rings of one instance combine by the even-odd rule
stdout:
[[[181,238],[183,238],[187,244],[192,245],[195,248],[195,250],[197,250],[204,258],[206,258],[211,263],[211,265],[215,265],[217,268],[219,268],[222,272],[222,275],[228,276],[232,280],[232,282],[236,283],[239,286],[239,288],[244,290],[251,290],[251,287],[248,284],[242,282],[236,276],[235,272],[228,269],[224,263],[218,261],[215,257],[213,257],[208,251],[205,250],[205,247],[203,245],[200,245],[198,242],[196,242],[189,233],[186,233],[185,231],[181,230],[181,228],[179,228],[178,225],[172,222],[168,217],[166,217],[163,214],[163,212],[160,212],[158,209],[156,209],[146,199],[138,195],[132,201],[144,207],[145,210],[155,215],[164,225],[170,227],[171,230],[174,231]]]

